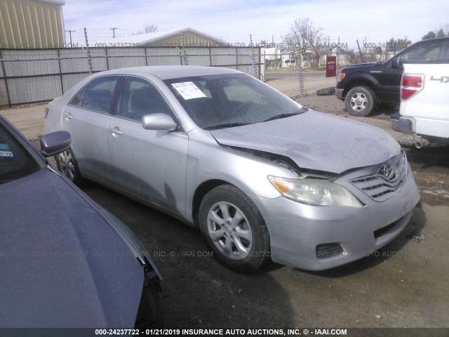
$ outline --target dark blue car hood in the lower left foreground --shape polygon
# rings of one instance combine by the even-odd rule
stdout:
[[[128,327],[142,267],[98,209],[42,169],[0,185],[0,327]]]

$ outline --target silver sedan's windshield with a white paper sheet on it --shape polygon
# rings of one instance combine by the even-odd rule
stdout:
[[[246,74],[220,74],[165,83],[200,128],[213,130],[307,111],[279,91]]]

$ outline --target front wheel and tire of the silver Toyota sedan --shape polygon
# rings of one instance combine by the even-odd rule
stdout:
[[[199,227],[215,258],[237,272],[253,272],[269,260],[267,225],[253,201],[232,185],[210,190],[201,201]]]

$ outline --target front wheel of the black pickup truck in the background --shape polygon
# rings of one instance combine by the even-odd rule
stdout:
[[[348,91],[344,106],[352,116],[366,117],[375,107],[375,93],[366,86],[355,86]]]

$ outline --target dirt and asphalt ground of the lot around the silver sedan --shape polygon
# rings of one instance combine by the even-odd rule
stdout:
[[[288,86],[286,80],[268,84],[284,92]],[[297,88],[291,90],[295,95]],[[356,118],[335,96],[298,101],[383,128],[401,143],[410,140],[391,131],[391,111]],[[326,272],[272,264],[253,275],[237,274],[214,260],[197,230],[100,185],[84,191],[128,224],[153,256],[164,277],[167,328],[415,327],[446,329],[357,336],[449,336],[449,148],[405,149],[422,195],[412,221],[373,256]]]

